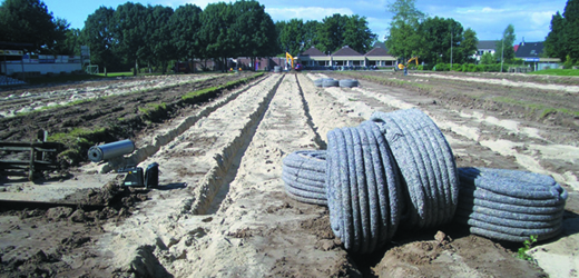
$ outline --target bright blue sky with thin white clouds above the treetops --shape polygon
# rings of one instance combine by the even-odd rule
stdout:
[[[99,7],[117,8],[127,0],[43,0],[48,10],[56,18],[66,19],[71,28],[82,29],[87,17]],[[133,0],[143,4],[165,6],[177,9],[185,3],[193,3],[205,9],[212,2],[232,2],[213,0]],[[322,21],[334,13],[359,14],[365,17],[369,27],[377,39],[383,41],[392,13],[387,4],[394,0],[258,0],[265,11],[275,21],[293,18]],[[516,43],[544,41],[550,31],[552,16],[565,11],[567,0],[415,0],[415,7],[429,17],[453,18],[464,28],[477,32],[479,40],[499,40],[509,24],[513,24]]]

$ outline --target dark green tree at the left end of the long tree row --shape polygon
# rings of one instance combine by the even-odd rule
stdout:
[[[107,67],[112,64],[116,57],[118,40],[115,38],[112,8],[100,7],[85,21],[81,31],[82,41],[90,48],[90,60],[100,64],[107,76]]]

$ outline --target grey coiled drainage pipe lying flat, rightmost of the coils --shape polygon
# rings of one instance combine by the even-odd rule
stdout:
[[[567,191],[544,175],[489,168],[460,168],[457,222],[474,235],[522,242],[561,231]]]

